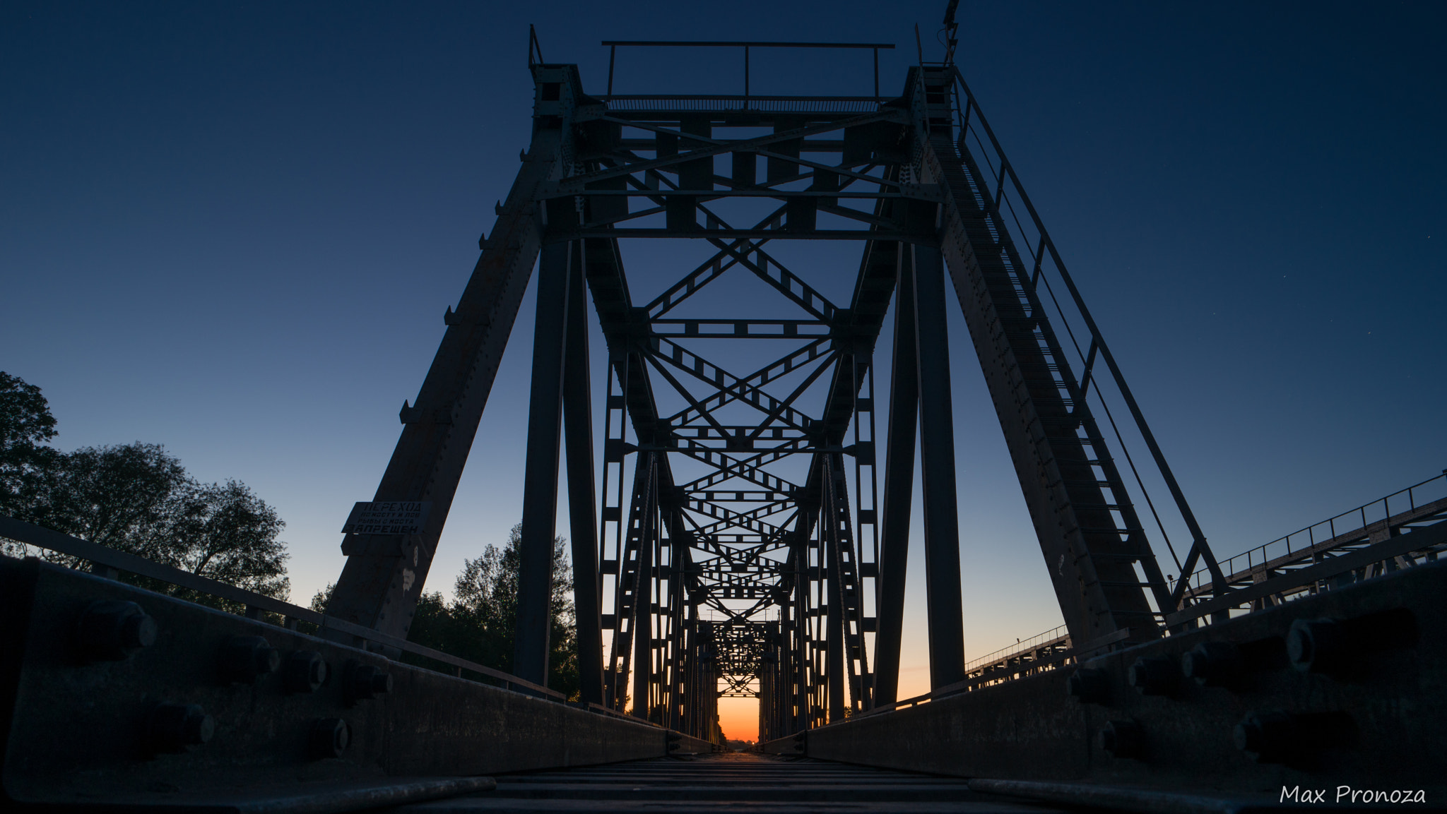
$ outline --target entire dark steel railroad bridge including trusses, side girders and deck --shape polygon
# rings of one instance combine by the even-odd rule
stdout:
[[[531,143],[375,500],[349,520],[326,613],[0,518],[0,536],[90,564],[0,562],[6,798],[1242,811],[1347,785],[1441,804],[1447,476],[1218,558],[954,39],[883,84],[887,43],[603,45],[598,94],[530,40]],[[732,49],[742,93],[614,93],[612,59],[638,45]],[[765,48],[873,53],[873,93],[751,94]],[[660,240],[689,247],[650,254]],[[857,266],[802,241],[857,247]],[[695,259],[648,298],[627,270],[640,256]],[[408,629],[463,467],[488,454],[479,421],[534,278],[502,672]],[[952,308],[968,343],[951,344]],[[589,357],[589,311],[606,359]],[[964,347],[1064,616],[968,664],[949,364]],[[560,479],[573,700],[547,687]],[[916,502],[930,691],[900,698]],[[758,698],[752,753],[721,753],[721,695]]]

